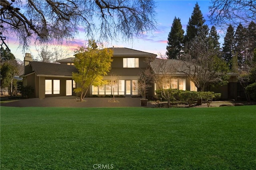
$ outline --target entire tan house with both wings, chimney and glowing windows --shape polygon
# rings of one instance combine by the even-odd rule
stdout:
[[[106,84],[91,86],[86,96],[140,96],[138,78],[141,72],[151,68],[158,77],[149,90],[149,96],[157,98],[155,90],[159,88],[176,88],[179,90],[197,91],[195,84],[186,77],[188,64],[175,59],[158,59],[157,55],[129,48],[111,48],[113,57],[111,70],[104,76]],[[148,59],[153,59],[151,63]],[[72,72],[78,70],[74,66],[74,57],[57,61],[60,64],[32,61],[30,54],[24,57],[23,85],[32,86],[34,95],[31,97],[43,99],[51,96],[79,96],[74,93],[78,86],[72,80]],[[111,81],[115,80],[114,85]],[[236,74],[230,74],[230,82],[236,82]],[[229,85],[214,89],[221,92],[222,98],[234,98]],[[233,96],[232,96],[233,95]]]

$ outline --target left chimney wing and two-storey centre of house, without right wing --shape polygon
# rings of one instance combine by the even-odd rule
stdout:
[[[152,53],[146,53],[128,48],[111,48],[113,61],[111,70],[104,80],[110,82],[114,76],[118,77],[114,92],[110,84],[103,86],[91,86],[86,96],[91,95],[120,95],[139,96],[138,77],[141,72],[149,68],[147,57],[156,57]],[[42,63],[32,61],[30,54],[24,57],[23,86],[32,86],[34,95],[31,97],[43,99],[51,96],[78,96],[74,93],[76,83],[72,80],[72,72],[77,72],[74,67],[74,57],[57,61],[60,64]]]

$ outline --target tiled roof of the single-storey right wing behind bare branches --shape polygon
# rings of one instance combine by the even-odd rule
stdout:
[[[176,59],[158,59],[150,63],[155,74],[186,74],[189,73],[189,67],[194,65],[182,60]]]

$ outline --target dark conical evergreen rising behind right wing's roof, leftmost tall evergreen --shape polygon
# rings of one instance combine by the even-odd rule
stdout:
[[[180,18],[174,18],[171,31],[168,35],[168,45],[166,47],[166,55],[169,59],[179,59],[183,49],[184,30],[180,22]]]

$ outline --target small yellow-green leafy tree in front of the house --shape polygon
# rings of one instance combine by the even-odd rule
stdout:
[[[78,70],[73,72],[73,79],[79,84],[74,92],[80,92],[80,101],[84,100],[91,85],[99,86],[103,84],[103,76],[111,69],[112,55],[111,49],[100,48],[94,40],[89,40],[88,47],[79,47],[75,51],[74,65]]]

